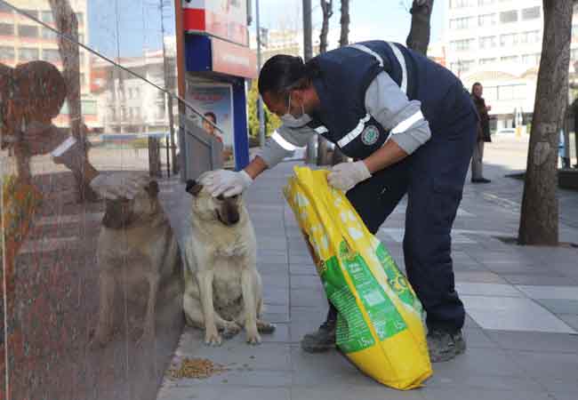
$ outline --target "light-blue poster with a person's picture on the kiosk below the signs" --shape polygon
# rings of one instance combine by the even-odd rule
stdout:
[[[223,143],[223,166],[235,168],[235,153],[233,137],[233,92],[230,84],[197,84],[187,82],[186,100],[201,114],[213,120],[222,132],[210,124],[204,124],[203,119],[191,110],[187,110],[190,119],[209,134],[213,134]]]

